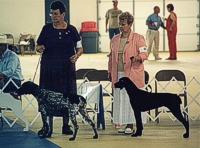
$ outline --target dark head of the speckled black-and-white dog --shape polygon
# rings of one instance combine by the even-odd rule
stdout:
[[[39,86],[31,81],[24,82],[22,86],[15,92],[17,95],[33,94]]]

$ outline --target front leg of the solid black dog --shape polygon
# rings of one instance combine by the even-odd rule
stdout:
[[[136,129],[136,132],[131,135],[131,137],[142,136],[143,125],[142,125],[141,111],[138,109],[135,109],[134,115],[135,115],[137,129]]]

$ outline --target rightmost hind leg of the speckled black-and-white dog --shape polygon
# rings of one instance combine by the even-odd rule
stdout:
[[[95,124],[92,122],[92,120],[90,119],[90,117],[88,116],[86,110],[85,110],[85,107],[79,107],[79,112],[80,114],[82,115],[83,119],[88,122],[88,124],[90,124],[90,126],[92,127],[93,131],[94,131],[94,136],[93,136],[93,139],[98,139],[98,133],[97,133],[97,130],[95,128]]]

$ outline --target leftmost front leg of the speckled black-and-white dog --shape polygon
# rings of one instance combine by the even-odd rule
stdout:
[[[46,134],[49,131],[49,126],[48,126],[48,122],[47,122],[47,113],[46,113],[44,106],[40,106],[40,112],[41,112],[41,116],[42,116],[43,127],[42,127],[42,132],[40,133],[41,130],[38,132],[38,137],[45,138]]]

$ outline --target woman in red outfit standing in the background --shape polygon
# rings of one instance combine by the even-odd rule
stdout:
[[[168,4],[167,10],[170,14],[168,18],[165,19],[167,21],[166,30],[167,30],[168,46],[169,46],[169,58],[167,58],[166,60],[176,60],[177,59],[177,56],[176,56],[177,16],[174,13],[173,4]]]

